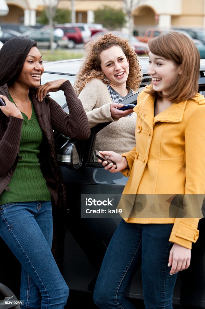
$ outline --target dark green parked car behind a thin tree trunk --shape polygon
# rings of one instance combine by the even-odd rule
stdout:
[[[38,48],[50,48],[50,28],[48,26],[41,29],[33,29],[25,32],[24,36],[29,37],[37,42]],[[70,48],[71,44],[66,36],[53,36],[54,48]]]

